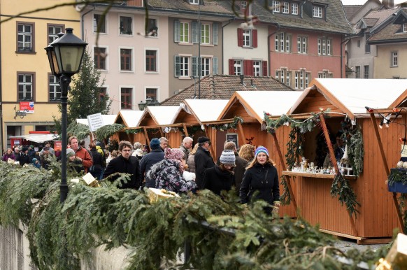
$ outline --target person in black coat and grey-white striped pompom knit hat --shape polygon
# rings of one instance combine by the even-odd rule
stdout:
[[[220,165],[205,170],[203,174],[203,188],[220,195],[222,190],[229,191],[235,185],[234,167],[236,157],[234,151],[224,150],[220,156]]]

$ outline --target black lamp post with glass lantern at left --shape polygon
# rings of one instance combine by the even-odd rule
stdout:
[[[66,183],[66,127],[67,113],[66,106],[68,104],[68,89],[71,83],[71,76],[79,72],[80,63],[82,62],[83,53],[87,43],[82,39],[72,34],[72,28],[66,28],[65,34],[58,34],[58,38],[48,45],[47,51],[48,61],[50,62],[52,75],[59,78],[61,86],[61,105],[62,105],[62,164],[61,164],[61,191],[60,201],[63,203],[68,196],[68,184]]]

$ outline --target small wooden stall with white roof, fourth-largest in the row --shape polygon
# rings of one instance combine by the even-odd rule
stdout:
[[[180,106],[150,106],[146,107],[136,125],[141,129],[148,145],[152,138],[165,137],[169,140],[169,147],[178,148],[182,141],[182,134],[176,129],[170,129],[171,120],[180,111]]]

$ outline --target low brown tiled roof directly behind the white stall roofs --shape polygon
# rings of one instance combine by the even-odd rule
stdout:
[[[201,99],[229,99],[235,91],[294,91],[287,85],[280,83],[272,77],[251,77],[243,78],[241,84],[240,76],[235,75],[208,75],[201,79]],[[162,101],[164,106],[178,106],[185,99],[198,98],[198,82],[185,88],[178,94]]]

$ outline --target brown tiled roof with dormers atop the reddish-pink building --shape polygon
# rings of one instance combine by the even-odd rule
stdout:
[[[232,1],[219,1],[224,8],[231,9]],[[311,31],[328,31],[341,34],[353,34],[352,27],[346,20],[345,11],[341,1],[338,0],[319,0],[320,5],[327,6],[327,20],[323,18],[312,17],[306,11],[300,15],[291,15],[283,13],[273,13],[273,10],[265,8],[265,0],[252,1],[252,15],[255,15],[260,22],[270,24],[279,24],[281,28],[308,29]],[[271,3],[271,1],[268,1]],[[313,1],[306,0],[304,10],[310,10],[312,13]],[[303,4],[299,2],[299,5]]]

